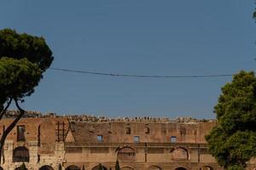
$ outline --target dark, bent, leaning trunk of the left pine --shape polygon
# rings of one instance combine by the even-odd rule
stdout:
[[[3,144],[4,141],[7,137],[7,135],[12,131],[12,129],[16,126],[17,122],[20,121],[20,118],[26,113],[26,111],[24,111],[23,109],[20,108],[20,105],[18,104],[17,99],[15,99],[15,105],[18,108],[18,110],[20,111],[20,114],[15,118],[15,121],[12,122],[11,124],[9,124],[9,127],[7,127],[4,131],[3,131],[3,135],[0,139],[0,164],[1,164],[1,158],[3,155]]]

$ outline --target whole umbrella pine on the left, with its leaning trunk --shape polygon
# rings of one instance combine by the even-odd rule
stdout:
[[[19,105],[38,86],[43,73],[53,61],[52,52],[43,37],[19,34],[11,29],[0,31],[0,120],[12,101],[20,114],[4,130],[0,139],[0,158],[9,132],[26,113]],[[0,159],[1,161],[1,159]]]

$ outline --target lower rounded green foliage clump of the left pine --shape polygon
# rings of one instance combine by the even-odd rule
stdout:
[[[27,59],[0,59],[0,91],[6,98],[29,96],[38,86],[42,71]]]

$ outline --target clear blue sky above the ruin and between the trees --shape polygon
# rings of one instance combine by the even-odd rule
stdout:
[[[146,75],[255,71],[253,0],[3,0],[0,29],[45,37],[52,67]],[[231,77],[149,79],[48,70],[23,108],[95,116],[215,117]]]

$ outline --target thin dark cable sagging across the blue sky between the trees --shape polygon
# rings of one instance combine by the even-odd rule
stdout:
[[[131,74],[113,74],[107,72],[96,72],[96,71],[75,71],[69,69],[61,69],[61,68],[49,68],[54,71],[64,71],[64,72],[75,72],[80,74],[88,74],[88,75],[99,75],[106,77],[137,77],[137,78],[207,78],[207,77],[232,77],[232,74],[217,74],[217,75],[187,75],[187,76],[160,76],[160,75],[131,75]]]

